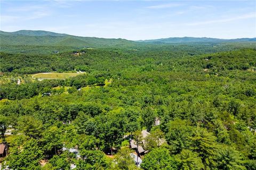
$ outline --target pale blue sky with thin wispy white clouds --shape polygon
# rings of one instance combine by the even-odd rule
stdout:
[[[256,1],[3,1],[2,31],[130,40],[256,37]]]

